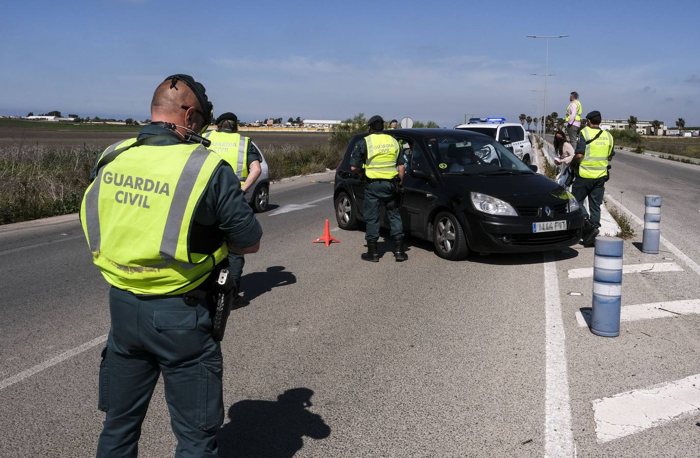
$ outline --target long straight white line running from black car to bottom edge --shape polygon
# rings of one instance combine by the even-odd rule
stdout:
[[[545,253],[545,457],[572,458],[566,343],[559,299],[559,279],[551,252]]]

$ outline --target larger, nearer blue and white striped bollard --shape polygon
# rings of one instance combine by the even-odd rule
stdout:
[[[619,336],[621,297],[622,238],[598,236],[593,261],[593,334],[603,337]]]

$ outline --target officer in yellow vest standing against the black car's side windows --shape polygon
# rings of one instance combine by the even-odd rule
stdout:
[[[384,120],[381,116],[370,117],[367,126],[370,127],[370,134],[355,144],[350,157],[353,172],[365,170],[365,203],[362,213],[367,222],[367,252],[363,253],[362,259],[379,262],[379,206],[384,204],[391,226],[394,258],[396,261],[405,261],[408,255],[403,243],[403,222],[399,208],[404,158],[400,154],[398,141],[391,135],[382,133]]]

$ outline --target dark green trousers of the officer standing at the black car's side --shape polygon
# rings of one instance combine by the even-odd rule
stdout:
[[[396,196],[391,192],[391,188],[391,183],[388,181],[373,181],[365,186],[365,203],[362,215],[367,222],[365,240],[368,242],[379,240],[379,210],[381,205],[386,206],[386,219],[391,228],[391,236],[403,236],[400,208],[395,203]]]

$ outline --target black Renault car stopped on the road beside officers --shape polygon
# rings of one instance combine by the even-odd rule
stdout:
[[[385,131],[406,155],[401,216],[407,234],[432,241],[435,253],[556,250],[580,241],[583,216],[570,192],[535,173],[489,136],[452,129]],[[335,172],[339,227],[363,222],[364,177],[350,169],[353,136]],[[381,224],[386,227],[384,209]]]

